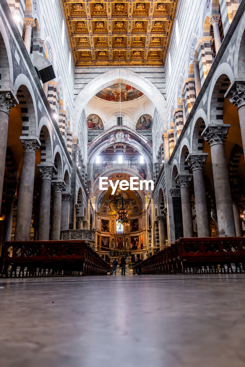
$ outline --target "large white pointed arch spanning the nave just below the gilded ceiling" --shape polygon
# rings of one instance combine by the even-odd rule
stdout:
[[[78,94],[74,103],[74,134],[77,135],[79,118],[85,105],[103,88],[119,82],[141,90],[156,106],[166,129],[166,100],[161,92],[147,79],[127,69],[113,69],[90,81]],[[154,96],[154,97],[153,97]]]

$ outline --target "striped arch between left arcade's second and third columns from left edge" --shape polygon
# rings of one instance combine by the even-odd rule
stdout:
[[[50,124],[46,117],[42,117],[39,123],[39,140],[41,143],[41,164],[53,161],[53,139]]]

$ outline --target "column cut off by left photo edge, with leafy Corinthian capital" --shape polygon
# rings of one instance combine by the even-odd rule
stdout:
[[[14,98],[9,92],[0,92],[0,209],[3,195],[3,180],[7,150],[8,117],[11,108],[15,107]]]

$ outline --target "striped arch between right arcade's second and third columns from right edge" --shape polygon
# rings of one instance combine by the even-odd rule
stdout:
[[[200,109],[196,113],[191,129],[191,152],[202,152],[203,150],[203,137],[202,132],[206,127],[205,121],[207,121],[207,116],[204,110]]]

